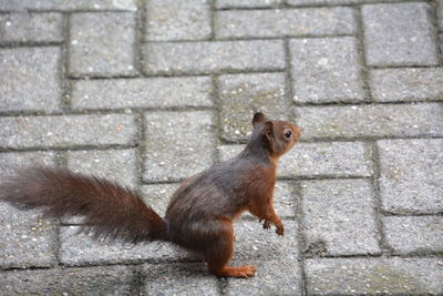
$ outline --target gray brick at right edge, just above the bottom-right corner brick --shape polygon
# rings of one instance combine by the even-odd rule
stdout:
[[[395,253],[443,252],[442,216],[388,216],[383,224],[388,245]]]

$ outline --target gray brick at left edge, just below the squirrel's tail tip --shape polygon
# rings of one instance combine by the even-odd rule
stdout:
[[[24,268],[55,265],[55,237],[54,226],[43,221],[29,225],[20,221],[2,221],[0,224],[0,267]]]

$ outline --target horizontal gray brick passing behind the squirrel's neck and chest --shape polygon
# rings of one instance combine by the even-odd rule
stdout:
[[[222,161],[236,156],[245,145],[222,145]],[[298,143],[279,160],[278,177],[371,176],[372,162],[362,142]]]

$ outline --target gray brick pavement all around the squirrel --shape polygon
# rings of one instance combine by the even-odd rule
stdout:
[[[169,245],[75,235],[0,204],[0,294],[442,295],[443,1],[0,0],[0,176],[41,162],[163,213],[254,111],[302,129],[277,212],[209,275]]]

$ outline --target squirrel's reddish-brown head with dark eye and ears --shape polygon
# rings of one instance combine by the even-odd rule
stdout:
[[[300,127],[287,121],[268,121],[260,112],[254,114],[253,125],[254,134],[265,142],[272,157],[284,155],[300,137]]]

